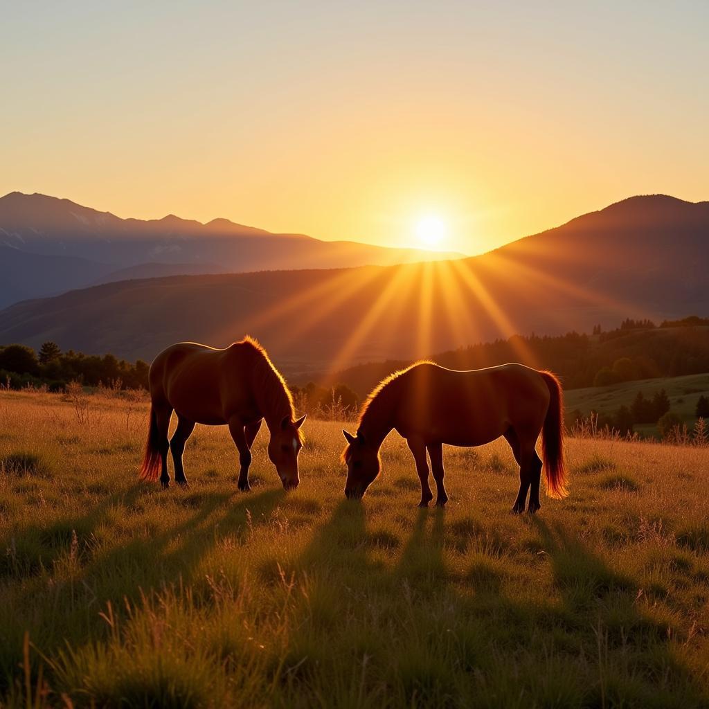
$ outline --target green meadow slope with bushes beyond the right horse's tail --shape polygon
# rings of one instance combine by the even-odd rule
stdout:
[[[566,410],[579,409],[584,415],[591,411],[613,415],[620,406],[630,408],[638,391],[642,391],[645,398],[664,389],[669,396],[671,411],[688,426],[696,421],[695,410],[697,400],[702,394],[709,396],[709,374],[688,374],[687,376],[670,376],[659,379],[641,379],[640,381],[626,381],[623,384],[610,386],[589,386],[586,389],[570,389],[566,391]],[[655,436],[657,426],[636,425],[635,430],[642,435]]]

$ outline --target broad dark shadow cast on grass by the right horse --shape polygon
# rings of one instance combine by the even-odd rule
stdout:
[[[286,703],[298,705],[308,688],[369,658],[357,691],[364,686],[372,705],[377,692],[392,705],[437,707],[707,704],[705,686],[681,659],[685,639],[675,642],[679,630],[640,602],[632,579],[560,524],[521,524],[538,535],[545,585],[551,575],[547,599],[508,584],[515,565],[502,566],[504,557],[481,564],[484,550],[471,552],[469,573],[449,568],[447,551],[456,547],[445,510],[412,513],[401,549],[384,550],[390,563],[372,542],[381,533],[367,527],[366,501],[338,503],[296,562],[307,601],[279,679]],[[469,526],[481,540],[496,532],[483,521]]]

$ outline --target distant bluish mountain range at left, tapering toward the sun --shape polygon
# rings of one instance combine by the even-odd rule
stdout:
[[[11,259],[9,249],[23,257]],[[273,234],[228,219],[206,224],[173,214],[121,219],[68,199],[21,192],[0,198],[0,250],[0,307],[117,277],[319,269],[460,256]],[[55,275],[46,279],[47,272]]]

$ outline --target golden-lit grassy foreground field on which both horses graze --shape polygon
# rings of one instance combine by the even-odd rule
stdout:
[[[146,415],[0,393],[0,705],[709,706],[709,450],[569,440],[571,496],[532,518],[500,442],[447,449],[420,510],[393,434],[346,501],[310,420],[293,493],[264,431],[239,493],[200,427],[162,491]]]

